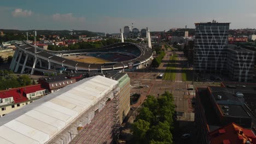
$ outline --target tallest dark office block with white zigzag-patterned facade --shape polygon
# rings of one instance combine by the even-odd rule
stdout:
[[[218,71],[225,69],[230,23],[195,23],[194,68]]]

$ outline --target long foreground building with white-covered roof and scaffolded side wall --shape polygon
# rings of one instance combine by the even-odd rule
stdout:
[[[0,143],[112,143],[130,110],[130,78],[89,77],[2,117]]]

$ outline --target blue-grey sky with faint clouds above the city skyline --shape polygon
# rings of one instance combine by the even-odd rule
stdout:
[[[118,33],[194,28],[195,22],[231,22],[256,28],[255,0],[1,0],[0,29],[87,30]]]

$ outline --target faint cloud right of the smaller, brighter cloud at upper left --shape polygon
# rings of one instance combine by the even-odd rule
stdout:
[[[52,16],[54,21],[63,21],[63,22],[85,22],[85,17],[74,17],[72,13],[68,14],[54,14]]]

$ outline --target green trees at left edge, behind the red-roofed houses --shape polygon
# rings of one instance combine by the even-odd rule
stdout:
[[[23,87],[35,82],[28,75],[17,76],[13,71],[0,70],[0,91],[7,88]]]

